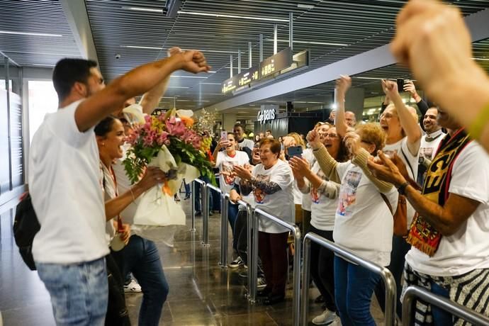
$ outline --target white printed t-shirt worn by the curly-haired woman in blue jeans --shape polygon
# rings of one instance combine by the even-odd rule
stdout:
[[[377,187],[359,167],[351,162],[339,163],[337,173],[342,183],[333,239],[364,259],[388,266],[394,227],[389,208]],[[395,207],[398,202],[396,189],[393,187],[385,195]]]

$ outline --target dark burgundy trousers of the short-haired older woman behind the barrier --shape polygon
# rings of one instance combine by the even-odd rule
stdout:
[[[258,232],[258,252],[262,258],[266,279],[266,291],[271,296],[285,296],[287,281],[288,232]]]

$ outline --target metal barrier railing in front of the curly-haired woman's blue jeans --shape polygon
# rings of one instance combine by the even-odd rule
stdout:
[[[314,232],[309,232],[304,237],[304,253],[303,253],[303,275],[302,275],[302,323],[301,325],[308,325],[308,291],[309,291],[309,276],[310,276],[310,242],[316,242],[318,245],[330,249],[335,252],[339,257],[349,260],[354,264],[358,264],[376,274],[380,274],[383,282],[386,283],[386,310],[384,312],[385,325],[393,326],[395,322],[395,280],[394,276],[386,267],[379,266],[373,262],[369,262],[352,252],[347,251],[342,247],[339,247],[335,242],[320,237]]]

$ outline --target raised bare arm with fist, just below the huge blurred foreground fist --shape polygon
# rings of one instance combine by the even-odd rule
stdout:
[[[383,80],[382,88],[393,101],[398,111],[399,122],[403,127],[406,137],[408,137],[408,148],[411,154],[417,155],[421,142],[421,130],[417,125],[417,119],[414,118],[413,113],[403,103],[403,99],[399,95],[398,84],[395,81]]]

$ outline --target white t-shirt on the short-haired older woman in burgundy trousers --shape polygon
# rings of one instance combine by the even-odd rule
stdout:
[[[252,175],[259,180],[275,182],[281,188],[269,194],[260,189],[253,189],[255,208],[260,208],[281,220],[293,223],[296,215],[292,194],[293,176],[288,164],[281,159],[270,169],[265,169],[263,164],[258,164],[254,167]],[[258,230],[267,233],[288,232],[288,228],[265,218],[260,218]]]

